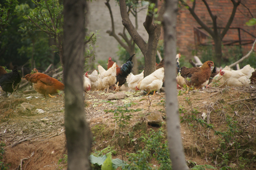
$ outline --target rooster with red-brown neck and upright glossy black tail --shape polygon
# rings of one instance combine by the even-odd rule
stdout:
[[[119,90],[119,87],[121,87],[126,82],[127,76],[130,73],[132,73],[132,68],[133,68],[132,58],[134,55],[130,56],[130,58],[126,61],[126,63],[124,63],[121,67],[117,66],[117,68],[116,68],[116,71],[117,71],[117,81],[116,81],[117,88],[116,88],[116,90]],[[112,58],[109,57],[108,58],[108,69],[110,67],[112,67],[113,64],[114,64],[114,62],[112,61]]]

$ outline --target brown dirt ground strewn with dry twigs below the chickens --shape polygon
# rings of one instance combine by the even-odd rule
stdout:
[[[237,120],[246,131],[241,134],[243,138],[249,139],[251,143],[255,141],[255,88],[247,87],[225,87],[222,89],[211,88],[204,90],[190,91],[189,94],[179,94],[177,98],[180,106],[181,120],[185,120],[187,115],[196,115],[196,118],[205,118],[208,124],[212,124],[215,130],[224,131],[227,128],[226,117],[230,116]],[[24,90],[24,89],[23,89]],[[106,109],[116,109],[117,106],[124,106],[133,103],[130,108],[141,109],[133,113],[130,127],[138,122],[144,122],[144,117],[150,112],[164,111],[162,99],[164,93],[155,96],[150,95],[149,100],[142,94],[124,90],[126,98],[122,100],[107,101],[108,95],[103,91],[89,91],[85,93],[85,114],[90,128],[93,130],[94,143],[92,151],[101,151],[108,145],[114,146],[112,136],[116,133],[116,123],[113,113],[106,113]],[[182,90],[180,91],[182,92]],[[67,154],[64,128],[64,94],[59,94],[55,98],[44,98],[43,95],[23,94],[22,91],[15,92],[13,97],[6,98],[5,94],[0,96],[0,142],[5,143],[5,154],[3,162],[10,164],[10,169],[27,170],[55,170],[62,167],[66,169],[66,164],[58,165],[58,161]],[[252,99],[249,99],[252,98]],[[150,106],[150,107],[149,107]],[[25,109],[24,109],[25,108]],[[44,113],[37,113],[42,109]],[[197,112],[194,112],[196,109]],[[39,110],[40,111],[40,110]],[[162,117],[166,115],[162,112]],[[164,119],[165,120],[165,119]],[[183,121],[181,123],[181,137],[188,162],[196,162],[198,165],[217,166],[217,158],[213,160],[212,154],[219,147],[219,137],[213,130],[198,125],[191,128],[192,123]],[[95,128],[104,127],[108,136],[101,131],[97,134]],[[158,129],[146,125],[146,128]],[[139,135],[139,133],[138,133]],[[250,143],[250,141],[248,142]],[[254,142],[255,143],[255,142]],[[126,152],[135,152],[134,145],[126,147]],[[255,146],[254,146],[255,147]],[[252,150],[255,148],[251,148]],[[113,158],[122,159],[118,147],[117,154]],[[236,162],[230,163],[237,164]],[[256,163],[252,162],[251,169]]]

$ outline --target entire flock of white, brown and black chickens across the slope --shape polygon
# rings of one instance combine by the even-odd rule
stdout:
[[[148,92],[159,91],[164,84],[164,59],[157,64],[156,70],[152,74],[144,78],[144,70],[138,75],[132,74],[133,62],[132,55],[121,67],[119,67],[112,58],[108,59],[107,70],[98,65],[98,70],[94,70],[91,74],[86,72],[83,75],[83,87],[84,91],[89,90],[105,90],[109,89],[119,91],[119,88],[127,82],[128,87],[131,90],[145,90]],[[256,83],[256,72],[249,64],[240,70],[231,70],[228,66],[217,72],[216,67],[212,61],[206,61],[201,67],[187,68],[185,66],[179,66],[180,54],[176,55],[176,69],[177,69],[177,88],[193,87],[194,89],[200,89],[204,86],[244,86],[250,83]],[[212,69],[212,67],[214,67]],[[43,94],[44,97],[55,97],[53,94],[57,94],[60,90],[64,90],[63,83],[55,78],[52,78],[46,74],[39,73],[34,68],[31,74],[27,74],[23,77],[28,82],[33,84],[34,89]],[[17,89],[18,84],[21,81],[21,77],[18,74],[18,70],[15,67],[11,73],[7,73],[6,70],[0,66],[0,86],[2,90],[6,92],[14,92]]]

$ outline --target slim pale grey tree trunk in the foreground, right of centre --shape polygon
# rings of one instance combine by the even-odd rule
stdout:
[[[180,118],[176,92],[176,22],[178,0],[166,0],[164,13],[165,100],[167,136],[173,170],[188,170],[180,135]]]

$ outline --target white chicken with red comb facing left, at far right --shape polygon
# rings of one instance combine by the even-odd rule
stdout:
[[[220,75],[228,86],[244,86],[251,83],[252,72],[254,69],[248,64],[240,70],[220,70]]]

